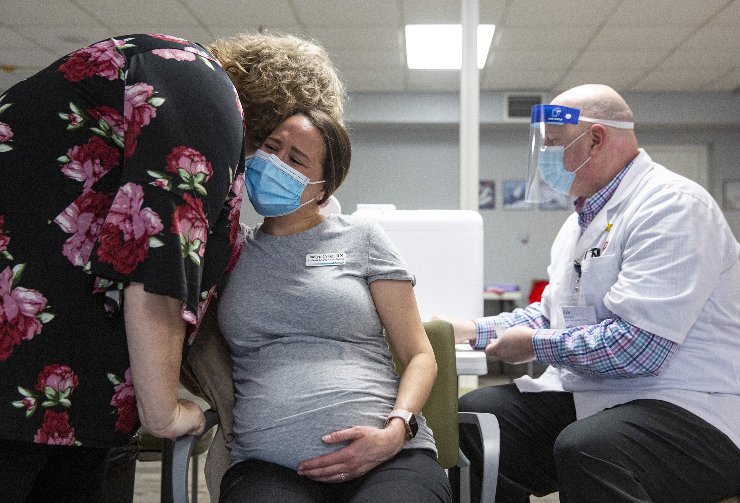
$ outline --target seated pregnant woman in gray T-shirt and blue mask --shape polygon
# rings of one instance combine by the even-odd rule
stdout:
[[[343,126],[305,112],[247,160],[265,219],[243,226],[218,305],[236,388],[221,502],[451,499],[421,414],[437,364],[414,275],[372,220],[319,213],[350,158]]]

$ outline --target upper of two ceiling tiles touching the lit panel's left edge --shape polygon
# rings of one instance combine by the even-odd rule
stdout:
[[[399,28],[319,28],[309,35],[334,53],[351,50],[400,50]]]

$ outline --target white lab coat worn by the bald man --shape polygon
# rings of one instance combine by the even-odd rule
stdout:
[[[602,254],[582,261],[576,283],[573,259],[592,248]],[[576,305],[593,305],[599,322],[618,316],[679,347],[656,377],[607,379],[551,367],[541,379],[517,379],[519,390],[572,391],[579,419],[633,399],[662,399],[740,447],[739,256],[711,195],[640,149],[583,235],[575,213],[560,229],[542,314],[551,328],[565,328],[562,307],[577,298]]]

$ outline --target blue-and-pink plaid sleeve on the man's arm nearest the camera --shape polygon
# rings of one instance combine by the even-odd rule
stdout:
[[[678,347],[619,317],[599,325],[538,330],[533,343],[540,363],[610,379],[657,376]]]

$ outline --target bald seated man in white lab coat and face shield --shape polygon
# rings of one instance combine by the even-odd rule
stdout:
[[[540,107],[528,197],[577,198],[550,284],[525,309],[451,320],[458,342],[551,365],[460,399],[460,411],[499,420],[496,501],[556,490],[568,503],[736,496],[740,244],[706,190],[637,148],[632,112],[610,87],[575,87]],[[508,328],[497,337],[494,325]],[[477,433],[463,428],[460,443],[477,501]]]

